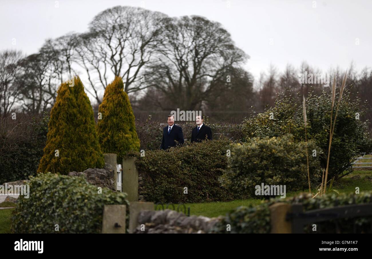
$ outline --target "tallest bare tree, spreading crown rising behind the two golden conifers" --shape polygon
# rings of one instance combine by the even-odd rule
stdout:
[[[127,93],[146,87],[140,81],[141,70],[160,42],[164,17],[138,7],[116,6],[95,16],[89,32],[78,36],[74,61],[87,74],[87,91],[98,103],[101,90],[114,76],[123,78]]]

